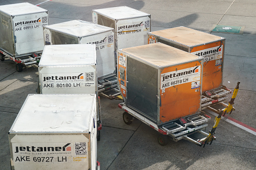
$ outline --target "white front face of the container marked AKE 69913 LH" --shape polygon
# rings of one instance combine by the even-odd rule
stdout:
[[[13,25],[17,57],[43,51],[43,26],[48,25],[47,13],[16,16]]]

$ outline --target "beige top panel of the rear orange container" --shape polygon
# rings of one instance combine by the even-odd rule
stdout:
[[[154,31],[153,35],[163,37],[187,46],[196,46],[223,39],[212,34],[193,30],[186,27],[176,27],[166,30]]]

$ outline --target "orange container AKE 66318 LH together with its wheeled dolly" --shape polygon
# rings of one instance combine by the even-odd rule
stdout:
[[[201,112],[203,58],[161,43],[121,49],[117,54],[124,122],[131,124],[133,117],[141,120],[161,133],[161,145],[167,143],[167,135],[202,145],[188,135],[209,135],[202,131],[210,120]]]

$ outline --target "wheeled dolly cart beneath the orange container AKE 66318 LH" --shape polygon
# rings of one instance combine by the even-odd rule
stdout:
[[[209,135],[209,133],[204,132],[202,129],[207,126],[207,124],[205,123],[210,121],[211,117],[206,115],[203,111],[193,115],[175,119],[162,125],[156,125],[146,117],[141,116],[141,114],[139,114],[138,112],[127,107],[125,103],[120,103],[118,107],[125,111],[123,113],[123,120],[126,124],[131,124],[133,121],[133,117],[135,117],[158,131],[160,133],[157,137],[158,143],[162,146],[167,144],[168,136],[170,136],[170,138],[176,142],[181,139],[186,139],[201,146],[202,143],[199,142],[199,140],[194,140],[189,137],[189,135],[197,132],[205,136]]]

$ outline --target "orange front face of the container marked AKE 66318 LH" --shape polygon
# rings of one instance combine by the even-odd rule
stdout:
[[[160,123],[194,114],[201,109],[201,62],[161,70]]]

